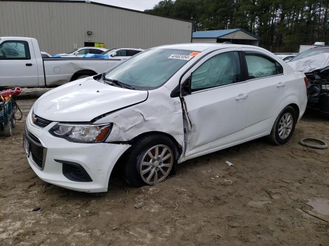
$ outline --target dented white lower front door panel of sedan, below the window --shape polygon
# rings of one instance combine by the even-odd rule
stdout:
[[[187,134],[185,157],[209,151],[245,137],[246,100],[236,100],[247,94],[247,83],[233,84],[184,97],[187,118],[191,122]]]

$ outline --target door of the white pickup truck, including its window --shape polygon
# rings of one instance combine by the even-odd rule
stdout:
[[[30,39],[5,40],[0,44],[0,87],[39,85],[32,47]]]

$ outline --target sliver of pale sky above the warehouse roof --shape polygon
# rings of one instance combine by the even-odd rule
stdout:
[[[160,0],[90,0],[90,2],[143,11],[145,9],[152,9]]]

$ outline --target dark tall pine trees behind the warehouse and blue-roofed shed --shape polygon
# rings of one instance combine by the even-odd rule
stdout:
[[[297,52],[299,45],[328,38],[329,0],[163,0],[148,13],[189,19],[194,31],[242,28],[272,52]]]

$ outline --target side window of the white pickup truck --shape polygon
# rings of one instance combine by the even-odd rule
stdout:
[[[30,59],[29,45],[25,41],[6,41],[0,45],[0,59]]]

